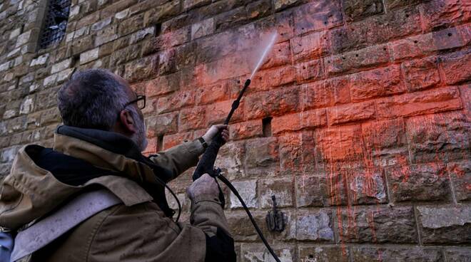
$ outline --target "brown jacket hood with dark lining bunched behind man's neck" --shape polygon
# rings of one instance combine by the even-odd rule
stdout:
[[[126,206],[151,201],[153,196],[141,185],[150,184],[163,195],[156,174],[167,180],[168,171],[146,159],[128,137],[61,126],[54,134],[54,150],[39,145],[19,150],[1,183],[0,226],[17,230],[97,186],[106,187]]]

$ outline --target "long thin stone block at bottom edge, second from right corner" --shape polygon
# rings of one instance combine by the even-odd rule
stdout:
[[[442,251],[438,248],[374,248],[358,247],[352,248],[354,262],[373,262],[373,261],[443,261]]]

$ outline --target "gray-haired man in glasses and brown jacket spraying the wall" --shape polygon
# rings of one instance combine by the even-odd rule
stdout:
[[[31,261],[236,261],[215,179],[205,174],[188,187],[191,224],[171,219],[163,185],[196,165],[219,131],[228,140],[227,126],[144,157],[143,107],[145,97],[106,70],[78,72],[61,87],[64,125],[54,134],[54,148],[19,151],[1,184],[0,226],[27,231],[96,189],[107,189],[121,204],[86,219],[34,252]]]

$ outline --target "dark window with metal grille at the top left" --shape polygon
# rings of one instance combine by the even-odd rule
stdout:
[[[50,0],[39,37],[39,48],[59,43],[66,33],[71,0]]]

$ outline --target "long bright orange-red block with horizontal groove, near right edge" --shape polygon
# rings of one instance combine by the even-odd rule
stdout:
[[[393,118],[425,115],[462,108],[456,87],[447,87],[384,98],[377,101],[378,116]]]

